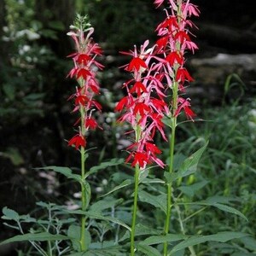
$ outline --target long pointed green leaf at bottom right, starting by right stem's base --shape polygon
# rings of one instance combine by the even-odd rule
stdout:
[[[183,248],[192,247],[206,241],[226,242],[226,241],[230,241],[236,238],[241,238],[244,236],[248,236],[248,235],[241,232],[220,232],[220,233],[209,235],[209,236],[191,236],[187,240],[181,241],[175,247],[173,247],[171,254],[179,250],[182,250]]]

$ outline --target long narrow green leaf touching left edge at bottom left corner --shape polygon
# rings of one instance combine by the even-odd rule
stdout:
[[[18,235],[11,237],[7,240],[4,240],[0,243],[0,245],[14,242],[14,241],[60,241],[60,240],[70,240],[70,237],[68,236],[62,236],[62,235],[53,235],[48,232],[43,233],[37,233],[37,234],[24,234],[24,235]]]

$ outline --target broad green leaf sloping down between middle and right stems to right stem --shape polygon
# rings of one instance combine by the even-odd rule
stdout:
[[[147,202],[148,204],[160,208],[163,212],[166,212],[166,195],[151,195],[146,191],[139,190],[139,200]]]

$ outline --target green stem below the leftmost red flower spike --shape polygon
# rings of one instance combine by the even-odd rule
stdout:
[[[84,180],[85,180],[85,150],[84,147],[81,147],[81,192],[82,192],[82,211],[86,210],[86,194],[85,194],[85,187],[84,187]],[[82,215],[81,217],[81,232],[80,232],[80,246],[81,251],[86,251],[86,245],[85,245],[85,222],[86,217],[85,215]]]

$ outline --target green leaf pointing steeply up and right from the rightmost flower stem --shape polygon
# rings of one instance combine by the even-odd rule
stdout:
[[[197,165],[199,160],[201,159],[201,155],[207,148],[208,142],[200,149],[195,151],[194,154],[191,154],[189,158],[183,161],[183,164],[180,166],[178,172],[176,172],[176,178],[188,176],[194,172],[196,172]]]

